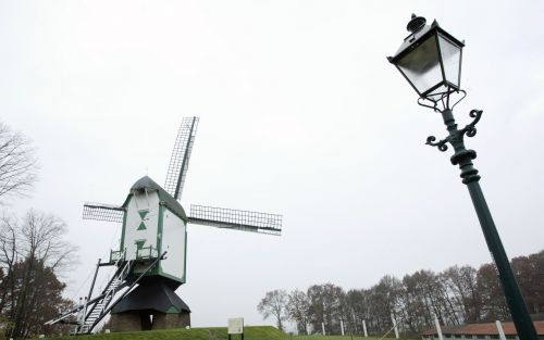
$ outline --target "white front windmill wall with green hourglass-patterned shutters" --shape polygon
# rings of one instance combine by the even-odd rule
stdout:
[[[140,212],[148,212],[144,219]],[[138,229],[141,222],[145,229]],[[126,210],[126,221],[124,226],[124,248],[126,249],[126,260],[136,259],[136,243],[144,241],[144,248],[149,245],[157,249],[157,231],[159,225],[159,196],[157,191],[146,194],[134,194]]]

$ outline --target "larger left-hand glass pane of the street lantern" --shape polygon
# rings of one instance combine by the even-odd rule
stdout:
[[[403,56],[397,65],[420,95],[443,81],[434,35]]]

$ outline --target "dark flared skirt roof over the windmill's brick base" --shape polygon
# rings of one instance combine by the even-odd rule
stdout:
[[[112,310],[112,313],[128,311],[154,310],[162,313],[172,313],[172,307],[177,313],[189,312],[185,302],[174,290],[162,282],[148,282],[139,285],[128,295],[123,298]]]

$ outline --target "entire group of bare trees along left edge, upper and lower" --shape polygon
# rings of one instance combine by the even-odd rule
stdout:
[[[28,196],[38,169],[29,141],[0,122],[0,339],[67,331],[44,326],[72,305],[59,277],[75,253],[63,239],[66,225],[33,209],[23,217],[8,209],[8,200]]]

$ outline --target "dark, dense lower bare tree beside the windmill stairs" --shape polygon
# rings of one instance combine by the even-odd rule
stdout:
[[[74,262],[75,247],[64,241],[60,218],[30,210],[24,218],[0,219],[0,313],[11,323],[8,335],[24,339],[57,316],[65,285],[59,274]],[[53,330],[50,330],[53,331]]]

